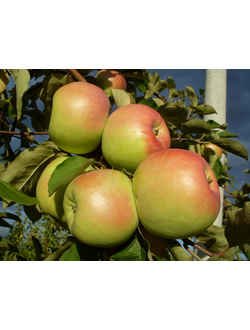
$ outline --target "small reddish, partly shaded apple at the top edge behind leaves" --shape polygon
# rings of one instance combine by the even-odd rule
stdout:
[[[97,73],[96,79],[101,83],[104,92],[110,96],[112,95],[110,88],[123,90],[127,88],[125,77],[118,71],[102,69]]]

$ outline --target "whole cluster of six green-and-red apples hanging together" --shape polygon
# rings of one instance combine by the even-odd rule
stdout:
[[[37,184],[41,209],[79,241],[102,248],[126,242],[140,221],[150,233],[171,239],[207,229],[220,210],[209,164],[191,151],[171,149],[164,119],[146,105],[127,105],[109,115],[110,88],[126,89],[126,79],[108,69],[96,78],[102,89],[74,82],[55,93],[49,134],[70,154],[87,154],[101,144],[113,169],[86,170],[49,197],[49,179],[68,157],[57,158]]]

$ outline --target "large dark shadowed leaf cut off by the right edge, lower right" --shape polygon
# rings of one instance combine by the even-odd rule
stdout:
[[[229,212],[225,236],[230,247],[250,243],[250,202],[243,209]]]

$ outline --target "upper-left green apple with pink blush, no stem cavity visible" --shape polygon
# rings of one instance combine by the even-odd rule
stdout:
[[[109,98],[101,88],[85,82],[65,85],[53,97],[50,138],[69,153],[90,153],[101,143],[109,111]]]

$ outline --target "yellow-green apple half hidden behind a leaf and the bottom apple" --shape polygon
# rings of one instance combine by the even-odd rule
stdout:
[[[55,221],[65,229],[68,229],[68,226],[63,210],[63,197],[68,185],[61,187],[51,197],[49,197],[48,183],[56,167],[67,158],[69,157],[59,157],[53,160],[43,171],[36,187],[36,197],[42,211],[51,215]]]

